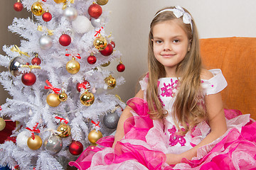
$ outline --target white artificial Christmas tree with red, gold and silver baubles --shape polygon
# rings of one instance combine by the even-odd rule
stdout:
[[[125,104],[111,89],[124,79],[103,67],[121,59],[105,32],[109,12],[101,6],[107,1],[19,2],[33,18],[14,18],[9,30],[23,40],[20,47],[5,45],[6,55],[0,55],[9,69],[0,81],[11,96],[0,117],[19,123],[16,143],[0,145],[0,166],[66,169],[81,144],[85,149],[114,132]],[[122,62],[117,70],[124,71]]]

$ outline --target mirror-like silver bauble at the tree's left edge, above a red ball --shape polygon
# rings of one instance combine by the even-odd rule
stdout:
[[[14,57],[9,64],[9,72],[11,72],[11,75],[14,77],[21,75],[21,72],[18,72],[18,69],[23,65],[26,65],[26,61],[23,57]]]

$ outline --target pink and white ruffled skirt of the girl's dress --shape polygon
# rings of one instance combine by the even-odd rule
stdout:
[[[225,135],[199,148],[198,157],[192,160],[182,159],[181,163],[169,166],[165,161],[166,153],[170,152],[168,150],[171,147],[166,142],[161,121],[149,118],[149,108],[144,99],[132,98],[127,101],[127,104],[133,109],[134,116],[124,123],[124,138],[112,148],[114,136],[102,137],[97,141],[99,147],[87,147],[75,162],[69,163],[70,166],[80,170],[204,170],[256,167],[256,135],[254,134],[256,124],[247,115],[241,115],[238,111],[225,110],[229,127]],[[207,135],[200,129],[195,128],[196,131],[191,132],[192,139]]]

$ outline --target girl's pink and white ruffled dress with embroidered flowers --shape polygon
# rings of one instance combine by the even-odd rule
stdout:
[[[201,80],[203,95],[217,94],[227,82],[220,69],[212,69],[214,77]],[[240,111],[225,110],[228,130],[210,144],[200,147],[197,157],[183,158],[181,163],[169,166],[165,163],[166,154],[179,154],[198,145],[208,135],[210,127],[206,122],[199,123],[186,135],[177,135],[171,116],[178,80],[174,77],[158,81],[159,98],[168,114],[164,120],[151,120],[148,115],[145,91],[148,78],[140,84],[144,99],[131,98],[127,101],[134,117],[124,123],[124,138],[114,148],[113,136],[102,137],[98,147],[87,147],[70,166],[78,169],[255,169],[256,170],[256,124],[250,115]]]

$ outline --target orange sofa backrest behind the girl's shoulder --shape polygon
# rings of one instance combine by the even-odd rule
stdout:
[[[206,69],[221,69],[228,81],[221,92],[225,108],[256,120],[256,38],[206,38],[200,44]]]

